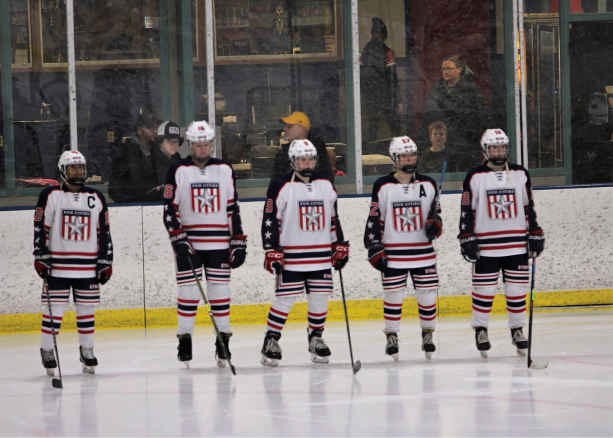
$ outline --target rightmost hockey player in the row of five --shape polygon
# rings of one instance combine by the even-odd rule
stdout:
[[[487,129],[481,137],[484,164],[471,169],[463,184],[460,250],[473,265],[473,318],[477,349],[490,350],[487,334],[492,302],[502,269],[511,341],[525,356],[528,253],[543,252],[545,235],[536,221],[530,174],[509,164],[509,139],[502,129]]]

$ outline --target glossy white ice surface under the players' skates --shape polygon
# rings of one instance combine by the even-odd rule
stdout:
[[[324,332],[329,364],[311,363],[306,323],[287,324],[276,368],[259,363],[264,324],[234,326],[236,376],[215,366],[210,327],[196,328],[189,369],[174,329],[99,330],[94,375],[81,371],[77,333],[62,332],[61,390],[39,334],[2,335],[0,436],[613,436],[611,310],[535,313],[544,370],[516,355],[506,316],[492,316],[487,359],[468,317],[439,318],[431,361],[416,319],[402,321],[397,363],[382,327],[351,322],[355,377],[339,322]]]

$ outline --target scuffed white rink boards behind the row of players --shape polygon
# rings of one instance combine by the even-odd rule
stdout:
[[[536,290],[613,288],[613,187],[536,190],[535,202],[547,238],[546,250],[538,259]],[[348,299],[381,298],[378,272],[368,264],[362,244],[369,203],[369,197],[338,202],[341,224],[351,242],[351,259],[343,270]],[[248,256],[232,272],[232,304],[273,299],[273,276],[262,268],[262,207],[262,201],[241,203]],[[444,194],[441,207],[444,231],[436,242],[439,295],[466,295],[471,290],[471,269],[460,255],[456,238],[460,194]],[[40,309],[42,282],[32,266],[32,215],[33,210],[0,212],[0,315]],[[172,248],[161,217],[162,206],[110,207],[115,263],[113,278],[102,287],[99,309],[175,306]]]

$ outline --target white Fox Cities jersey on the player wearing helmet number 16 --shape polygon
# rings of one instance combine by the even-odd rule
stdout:
[[[196,250],[223,250],[230,236],[243,234],[234,170],[211,158],[198,167],[191,157],[170,166],[164,188],[164,225],[183,229]]]

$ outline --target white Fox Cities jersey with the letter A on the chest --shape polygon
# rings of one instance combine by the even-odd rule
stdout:
[[[383,242],[389,267],[410,269],[435,264],[436,252],[424,227],[433,217],[436,196],[436,183],[427,175],[416,174],[409,184],[400,183],[393,174],[376,180],[364,246]]]

